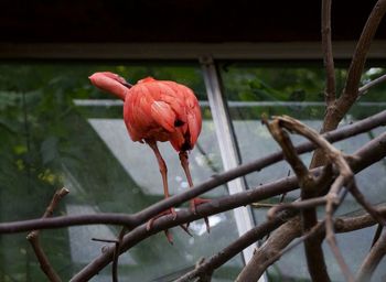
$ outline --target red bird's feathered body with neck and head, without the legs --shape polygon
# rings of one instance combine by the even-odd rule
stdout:
[[[90,76],[98,88],[125,101],[124,119],[133,141],[170,141],[176,151],[193,149],[202,127],[194,93],[184,85],[147,77],[131,88],[112,73]]]

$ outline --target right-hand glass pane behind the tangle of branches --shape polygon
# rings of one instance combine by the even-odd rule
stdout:
[[[384,67],[366,69],[363,75],[363,83],[385,73],[386,68]],[[344,87],[345,75],[346,72],[344,69],[336,69],[337,93]],[[324,69],[320,66],[298,64],[294,67],[288,67],[275,64],[224,63],[221,65],[221,76],[243,163],[279,150],[279,145],[260,122],[262,113],[268,117],[289,115],[300,119],[313,129],[320,130],[324,113]],[[384,110],[386,108],[386,97],[383,95],[385,90],[386,85],[383,84],[365,94],[350,111],[342,124]],[[350,154],[380,132],[383,132],[383,129],[378,128],[352,138],[350,141],[337,142],[335,145]],[[291,138],[294,143],[304,141],[299,135],[291,135]],[[311,156],[311,153],[302,155],[302,160],[307,165],[310,163]],[[386,195],[383,193],[383,187],[386,184],[385,169],[385,163],[379,162],[356,176],[360,188],[366,192],[367,199],[374,204],[386,200]],[[290,166],[286,162],[281,162],[247,175],[246,182],[250,188],[257,187],[260,184],[285,177],[289,173],[292,173]],[[376,178],[377,182],[374,183],[369,181],[371,178]],[[298,192],[288,193],[286,200],[293,200],[298,197]],[[276,204],[279,202],[279,198],[280,196],[274,197],[265,200],[265,203]],[[336,214],[347,214],[357,209],[360,209],[358,204],[349,196]],[[257,223],[266,219],[266,208],[254,209]],[[366,243],[364,246],[369,248],[368,243],[372,241],[373,235],[374,230],[368,228],[339,237],[351,238],[347,239],[351,243],[356,242],[355,238],[357,236],[365,237],[366,240],[364,241]],[[342,245],[344,243],[342,242]],[[342,249],[346,253],[349,265],[355,265],[355,268],[361,262],[364,251],[368,250],[365,247],[360,247],[355,251],[361,256],[351,256],[354,250],[350,249],[347,243]],[[286,254],[275,267],[269,269],[269,276],[272,281],[282,281],[281,279],[283,278],[307,279],[307,268],[302,268],[305,267],[305,261],[299,260],[302,256],[302,248]],[[297,263],[294,264],[293,261]],[[328,263],[329,265],[336,264],[330,252],[328,252]],[[304,272],[300,272],[299,269],[304,269]],[[329,270],[334,281],[341,278],[336,267],[331,267]]]

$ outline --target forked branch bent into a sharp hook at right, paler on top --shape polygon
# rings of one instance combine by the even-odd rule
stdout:
[[[317,131],[314,131],[311,128],[308,128],[305,124],[290,117],[277,117],[270,124],[268,124],[268,128],[272,137],[278,141],[278,143],[282,148],[286,155],[286,160],[291,164],[293,171],[298,175],[302,200],[310,202],[310,199],[317,199],[313,197],[317,195],[315,188],[319,187],[319,185],[315,185],[317,183],[314,178],[309,174],[308,170],[305,169],[305,165],[303,165],[299,156],[294,153],[293,145],[287,133],[281,129],[281,127],[290,131],[294,131],[296,133],[308,138],[310,141],[313,141],[323,151],[326,160],[333,163],[339,170],[339,177],[332,184],[326,197],[321,197],[321,199],[325,199],[325,225],[328,242],[331,246],[331,249],[342,269],[343,274],[349,281],[353,281],[353,276],[350,272],[350,269],[346,265],[343,256],[340,252],[340,249],[337,248],[332,218],[334,210],[340,205],[340,203],[342,203],[342,200],[339,200],[337,194],[340,193],[341,188],[343,188],[343,185],[345,185],[352,180],[353,173],[349,164],[344,160],[343,153],[336,150],[333,145],[331,145]],[[302,212],[304,234],[313,229],[318,223],[314,212],[314,207],[312,207],[312,209],[305,209]],[[310,214],[312,216],[310,216]],[[313,281],[330,281],[329,274],[326,272],[321,243],[322,238],[318,238],[315,236],[310,236],[310,239],[305,240],[304,247],[308,268]]]

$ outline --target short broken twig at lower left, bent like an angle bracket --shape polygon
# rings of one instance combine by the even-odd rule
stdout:
[[[68,193],[69,193],[69,191],[66,188],[61,188],[61,189],[56,191],[50,205],[45,209],[42,218],[51,217],[55,207],[57,206],[58,202]],[[55,272],[55,270],[51,265],[47,256],[45,254],[44,250],[42,249],[42,246],[40,245],[39,234],[40,234],[39,230],[33,230],[33,231],[28,234],[26,239],[31,243],[31,246],[35,252],[36,259],[39,260],[40,268],[45,273],[47,279],[51,282],[60,282],[60,281],[62,281],[61,278],[57,275],[57,273]]]

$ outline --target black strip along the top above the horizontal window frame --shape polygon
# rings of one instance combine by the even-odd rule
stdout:
[[[332,2],[333,40],[357,40],[376,1]],[[2,0],[0,43],[320,41],[320,14],[314,0]]]

